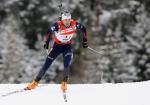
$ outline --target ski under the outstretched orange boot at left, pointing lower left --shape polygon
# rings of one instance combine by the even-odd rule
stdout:
[[[40,85],[37,88],[44,87],[44,86],[47,86],[47,85]],[[17,94],[17,93],[22,93],[22,92],[25,92],[25,91],[29,91],[29,90],[26,89],[26,88],[24,88],[24,89],[18,89],[18,90],[14,90],[14,91],[2,94],[1,96],[2,97],[6,97],[6,96],[10,96],[10,95]]]

